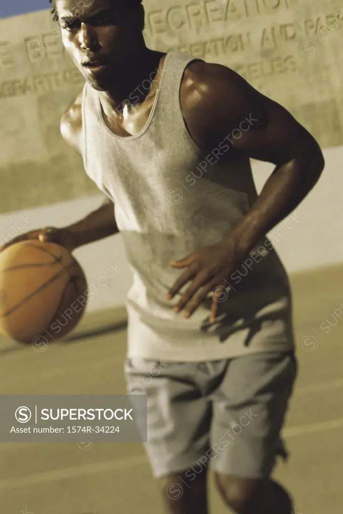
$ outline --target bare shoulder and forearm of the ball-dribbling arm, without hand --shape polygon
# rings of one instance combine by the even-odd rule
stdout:
[[[82,131],[81,103],[82,90],[61,118],[62,137],[75,150]],[[99,209],[67,228],[75,236],[78,247],[117,234],[119,229],[115,220],[113,202],[106,197]]]

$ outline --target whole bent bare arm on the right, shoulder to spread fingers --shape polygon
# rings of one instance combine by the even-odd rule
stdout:
[[[191,281],[174,310],[186,307],[185,317],[189,318],[212,291],[213,323],[223,288],[227,288],[234,270],[311,191],[322,173],[324,159],[316,140],[286,109],[258,93],[229,68],[195,63],[192,74],[188,72],[181,94],[191,135],[195,127],[195,134],[203,140],[207,135],[212,140],[215,136],[216,142],[228,140],[230,146],[226,146],[233,155],[275,164],[260,196],[236,228],[222,241],[170,263],[173,268],[186,270],[169,289],[167,300]]]

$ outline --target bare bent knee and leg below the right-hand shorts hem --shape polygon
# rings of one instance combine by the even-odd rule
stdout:
[[[225,503],[237,514],[291,514],[290,495],[276,482],[214,473]]]

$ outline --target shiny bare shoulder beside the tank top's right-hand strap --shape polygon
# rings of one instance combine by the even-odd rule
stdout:
[[[263,115],[263,95],[236,71],[221,64],[195,61],[185,70],[180,91],[185,112],[206,124],[225,117],[234,124],[253,109]]]

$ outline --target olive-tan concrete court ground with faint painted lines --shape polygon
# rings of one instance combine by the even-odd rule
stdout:
[[[279,464],[275,477],[294,493],[298,514],[343,510],[342,279],[343,267],[292,278],[299,375],[284,429],[291,458]],[[0,391],[125,394],[125,337],[122,328],[40,353],[3,341]],[[211,475],[210,502],[213,514],[228,512]],[[163,512],[139,443],[98,443],[88,450],[76,443],[3,443],[0,504],[4,514]]]

